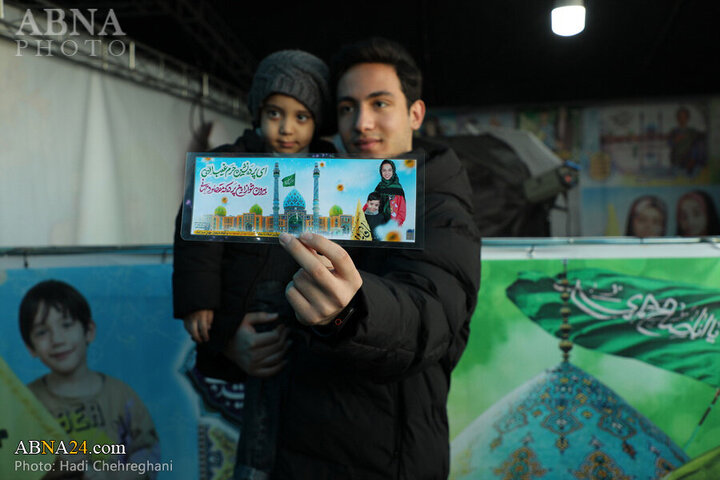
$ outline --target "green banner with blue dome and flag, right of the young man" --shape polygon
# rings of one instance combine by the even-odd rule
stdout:
[[[616,334],[607,323],[603,329],[602,323],[597,324],[590,314],[572,305],[570,312],[574,323],[584,319],[587,323],[582,327],[587,335],[590,335],[588,332],[594,333],[593,327],[596,332],[603,334],[604,341],[595,340],[595,343],[602,343],[605,347],[616,345],[614,342],[617,342],[617,345],[622,343],[626,347],[619,347],[617,350],[630,351],[632,347],[627,347],[628,342],[624,340],[626,333],[637,335],[638,339],[652,341],[658,338],[657,341],[665,344],[672,343],[669,337],[673,333],[677,336],[677,332],[660,329],[660,322],[650,322],[653,318],[649,315],[654,305],[653,298],[660,307],[665,308],[671,306],[671,303],[666,305],[669,298],[684,302],[685,313],[692,307],[703,305],[703,308],[707,307],[708,318],[710,314],[717,317],[709,304],[714,302],[713,298],[720,290],[717,280],[720,278],[720,257],[576,258],[572,256],[575,253],[572,247],[568,247],[568,253],[570,286],[575,286],[572,282],[578,278],[576,274],[585,272],[587,275],[581,278],[581,285],[583,292],[590,295],[592,303],[588,305],[593,306],[592,311],[600,311],[612,317],[602,322],[614,321],[618,329]],[[452,442],[449,478],[504,478],[503,473],[512,472],[512,467],[524,468],[532,462],[541,463],[543,469],[552,469],[543,479],[565,478],[572,474],[576,474],[577,478],[591,478],[587,471],[591,465],[587,462],[592,464],[590,460],[595,459],[595,466],[598,468],[601,465],[611,468],[608,462],[612,460],[623,462],[625,466],[616,465],[623,469],[628,466],[629,460],[637,464],[635,470],[647,472],[647,478],[659,479],[667,473],[668,464],[656,462],[659,460],[657,455],[649,454],[648,449],[657,446],[657,443],[639,440],[638,435],[642,435],[642,432],[666,434],[677,448],[684,450],[691,458],[720,444],[720,409],[716,405],[706,415],[717,387],[698,381],[695,377],[658,368],[637,357],[609,354],[595,347],[585,348],[577,338],[581,331],[579,325],[577,331],[573,331],[578,343],[570,351],[568,364],[581,373],[567,378],[570,382],[568,385],[580,388],[582,394],[570,395],[572,392],[580,392],[564,389],[563,383],[558,384],[556,392],[548,391],[547,396],[543,395],[546,389],[540,391],[535,388],[538,379],[556,378],[563,381],[562,376],[557,375],[558,368],[563,363],[562,351],[559,348],[560,342],[554,335],[561,319],[562,299],[558,280],[559,274],[564,271],[563,263],[562,258],[486,257],[483,260],[481,288],[470,324],[470,337],[460,363],[453,370],[448,398]],[[613,282],[612,278],[623,279],[623,282]],[[586,285],[586,281],[590,284]],[[508,287],[517,293],[514,299],[508,298]],[[593,291],[589,292],[591,288]],[[631,293],[629,290],[633,288],[636,290]],[[675,293],[671,295],[671,291]],[[576,295],[580,293],[579,289],[575,292]],[[627,303],[635,293],[643,294],[643,297],[630,301],[635,307],[622,306],[622,302]],[[648,297],[647,293],[652,293],[652,297]],[[645,297],[648,301],[643,309]],[[679,309],[680,306],[676,311]],[[628,312],[634,312],[634,317],[630,318],[647,313],[647,319],[641,323],[637,318],[631,323],[622,318],[623,313]],[[656,312],[659,312],[659,309],[656,309]],[[528,318],[528,313],[543,317],[547,319],[546,322],[555,323],[546,329]],[[685,322],[687,318],[683,318]],[[689,340],[692,335],[690,329],[686,329],[687,338],[676,341],[703,345],[706,349],[717,348],[715,344],[707,341],[714,338],[715,331],[711,332],[709,327],[704,330],[701,326],[703,322],[707,324],[708,320],[701,319],[697,326],[691,325],[695,340]],[[680,323],[674,324],[676,330],[679,325]],[[648,337],[638,333],[637,326],[648,332],[660,333],[661,336]],[[574,324],[573,329],[575,328]],[[705,335],[700,338],[703,331]],[[613,340],[608,340],[609,338]],[[720,338],[715,341],[717,343]],[[662,355],[663,351],[666,350],[660,348],[659,355]],[[691,357],[694,355],[696,354],[688,354]],[[715,356],[717,357],[717,354]],[[710,358],[708,362],[712,355],[701,354],[698,357],[698,363],[707,364],[704,367],[705,373],[713,368],[713,363],[717,369],[716,361],[713,362]],[[701,371],[703,365],[698,367],[698,371]],[[548,373],[553,371],[555,373]],[[590,381],[590,384],[586,385],[587,391],[583,390],[586,387],[582,386],[585,385],[585,380]],[[593,386],[597,386],[597,389]],[[602,394],[608,391],[612,398]],[[537,396],[538,392],[540,397]],[[615,406],[614,410],[588,409],[587,405],[593,403],[591,398],[597,400],[603,396],[609,402],[623,402],[642,414],[646,420],[635,418],[630,422],[630,418],[623,413],[628,410],[618,407],[619,403],[612,404]],[[564,405],[561,402],[565,400],[574,402],[573,408],[563,411],[554,409],[558,405]],[[529,408],[531,404],[538,408]],[[594,404],[601,405],[597,402]],[[704,416],[706,418],[702,427],[697,429]],[[532,431],[527,430],[529,425],[534,425]],[[553,437],[552,441],[548,438],[548,429],[556,427],[566,432],[567,444],[556,443],[557,436]],[[615,440],[607,437],[610,432],[615,433]],[[517,436],[514,436],[516,433]],[[601,438],[603,436],[605,438]],[[558,448],[565,447],[567,448],[562,454],[553,457],[552,454],[557,453]],[[612,449],[615,449],[614,453]],[[607,458],[593,456],[598,454],[597,450],[602,450]],[[553,458],[559,458],[561,463],[554,463]],[[513,459],[517,462],[513,463]],[[652,461],[644,463],[648,459]],[[665,456],[664,460],[669,461],[675,468],[681,463],[675,455],[672,455],[672,458]],[[523,464],[523,461],[526,463]],[[573,468],[572,474],[566,474],[569,468]],[[631,470],[625,470],[624,475],[630,476],[629,471]],[[617,474],[612,478],[623,477]]]

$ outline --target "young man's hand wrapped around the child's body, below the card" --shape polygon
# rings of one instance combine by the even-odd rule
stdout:
[[[252,312],[243,317],[235,336],[225,347],[225,355],[248,375],[270,377],[285,366],[285,353],[290,342],[285,325],[258,333],[255,325],[276,320],[277,313]]]

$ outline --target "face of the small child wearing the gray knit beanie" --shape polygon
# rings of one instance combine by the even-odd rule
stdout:
[[[304,153],[315,133],[315,120],[302,103],[276,93],[263,102],[260,130],[271,151]]]

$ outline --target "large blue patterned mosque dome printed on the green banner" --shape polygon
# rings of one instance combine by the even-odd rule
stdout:
[[[519,386],[452,442],[450,480],[656,480],[689,460],[599,380],[562,362]]]

